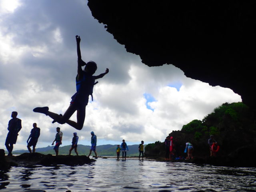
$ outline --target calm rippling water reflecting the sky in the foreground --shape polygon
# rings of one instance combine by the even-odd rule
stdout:
[[[13,167],[0,172],[5,191],[255,192],[256,168],[109,158],[84,166]]]

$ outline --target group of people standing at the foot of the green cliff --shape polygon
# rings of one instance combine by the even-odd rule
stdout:
[[[167,136],[166,139],[164,140],[165,143],[165,159],[166,160],[171,160],[174,158],[174,154],[178,154],[177,151],[175,151],[176,144],[173,142],[173,137],[172,136]],[[216,152],[218,152],[218,149],[214,149],[214,146],[217,145],[216,140],[214,139],[213,135],[210,135],[210,138],[208,139],[208,145],[210,147],[210,156],[216,156]],[[175,146],[175,147],[174,147]],[[178,146],[177,146],[178,148]],[[190,160],[193,158],[193,151],[194,151],[194,146],[190,143],[188,140],[186,142],[185,150],[184,153],[187,154],[186,159]],[[179,157],[176,157],[179,158]]]

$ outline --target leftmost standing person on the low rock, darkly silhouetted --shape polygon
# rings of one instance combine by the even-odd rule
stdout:
[[[5,140],[5,146],[8,150],[8,156],[12,156],[13,144],[16,144],[18,132],[21,130],[21,120],[17,118],[18,112],[12,112],[12,119],[8,123],[8,134]]]

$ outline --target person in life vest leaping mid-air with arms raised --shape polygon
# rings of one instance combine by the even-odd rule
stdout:
[[[77,66],[77,76],[76,76],[76,93],[71,97],[70,106],[62,116],[62,114],[58,115],[56,113],[48,111],[48,107],[37,107],[34,108],[34,112],[43,113],[50,116],[53,120],[52,123],[58,122],[60,124],[67,123],[70,126],[76,128],[77,130],[81,130],[84,126],[85,119],[85,110],[86,105],[88,104],[89,95],[92,96],[93,86],[95,80],[98,78],[104,77],[108,73],[108,68],[105,73],[102,73],[98,76],[92,76],[97,70],[97,64],[93,61],[84,62],[81,58],[80,52],[80,36],[76,36],[76,44],[77,44],[77,56],[78,56],[78,66]],[[84,70],[82,70],[82,66],[85,66]],[[92,97],[93,100],[93,97]],[[76,118],[77,122],[69,120],[69,118],[77,112]]]

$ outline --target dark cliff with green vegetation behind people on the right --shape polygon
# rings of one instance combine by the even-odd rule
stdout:
[[[228,155],[239,147],[256,144],[255,116],[242,102],[224,103],[202,120],[192,120],[180,131],[173,131],[169,135],[173,137],[178,156],[186,156],[183,151],[188,140],[194,146],[195,156],[209,156],[210,135],[214,135],[220,145],[218,155]],[[164,142],[148,144],[145,154],[164,157]]]

